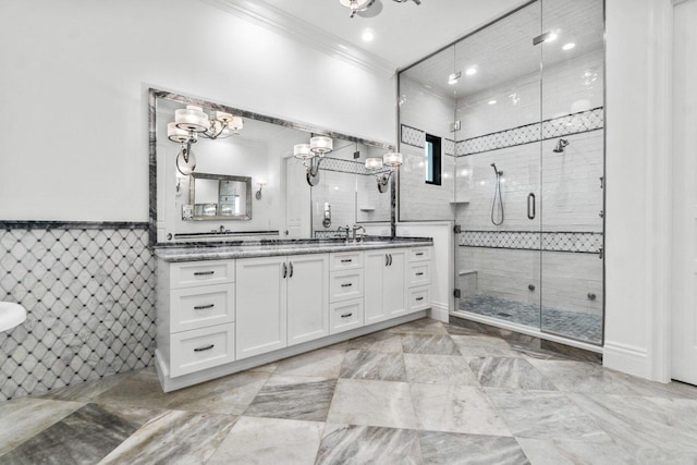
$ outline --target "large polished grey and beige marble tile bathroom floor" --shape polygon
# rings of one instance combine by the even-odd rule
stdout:
[[[431,319],[168,394],[149,368],[0,403],[2,464],[696,460],[697,388]]]

